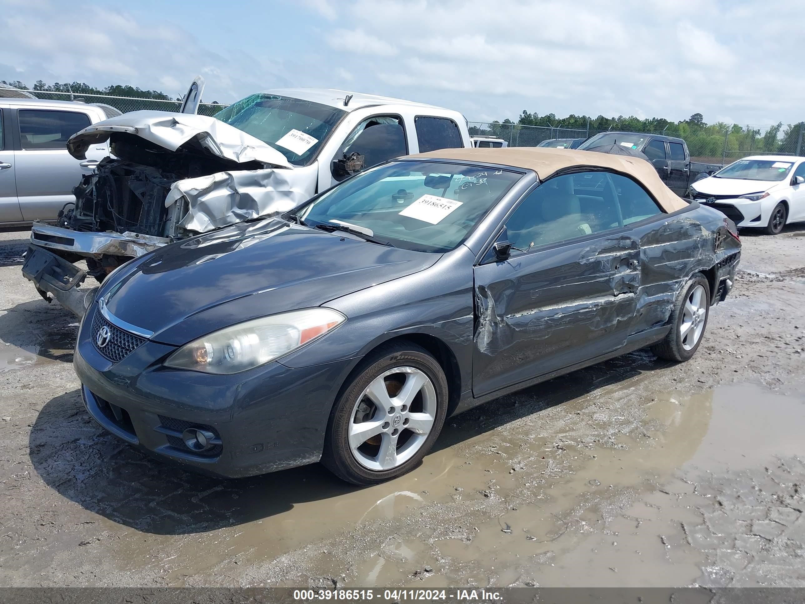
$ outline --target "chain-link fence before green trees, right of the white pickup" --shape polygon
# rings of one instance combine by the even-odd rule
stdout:
[[[732,163],[749,155],[801,155],[805,151],[805,122],[782,126],[741,126],[740,124],[669,124],[662,130],[640,126],[611,126],[584,129],[562,126],[522,126],[501,122],[467,122],[470,136],[503,139],[510,147],[537,147],[551,139],[588,139],[601,132],[663,134],[683,139],[691,159],[705,163]]]

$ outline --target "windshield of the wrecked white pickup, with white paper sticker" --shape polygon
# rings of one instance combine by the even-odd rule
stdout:
[[[345,114],[328,105],[258,93],[215,117],[274,147],[295,166],[306,166]]]

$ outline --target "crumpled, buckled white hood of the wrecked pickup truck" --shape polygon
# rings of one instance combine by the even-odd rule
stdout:
[[[132,111],[97,122],[73,134],[67,149],[76,159],[86,159],[91,145],[104,143],[114,132],[134,134],[168,151],[176,151],[196,139],[213,155],[237,163],[258,161],[266,168],[291,168],[285,155],[243,130],[207,115],[170,111]]]

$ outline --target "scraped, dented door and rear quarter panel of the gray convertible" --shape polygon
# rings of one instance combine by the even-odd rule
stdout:
[[[641,333],[662,337],[691,275],[708,276],[717,303],[739,249],[723,216],[696,208],[476,267],[473,394],[604,357]]]

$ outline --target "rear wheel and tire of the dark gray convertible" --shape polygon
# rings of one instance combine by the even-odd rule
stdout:
[[[704,339],[710,316],[710,283],[696,273],[685,283],[671,311],[671,331],[651,352],[669,361],[687,361]]]

